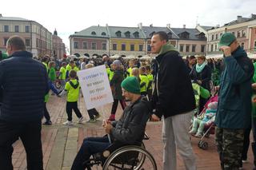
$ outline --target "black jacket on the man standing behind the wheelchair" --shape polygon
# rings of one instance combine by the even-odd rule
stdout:
[[[158,117],[171,117],[195,109],[194,92],[185,62],[177,51],[162,53],[158,61],[153,103]]]

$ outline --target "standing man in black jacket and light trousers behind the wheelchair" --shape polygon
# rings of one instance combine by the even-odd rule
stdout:
[[[186,169],[194,170],[195,156],[188,131],[195,101],[189,72],[177,49],[168,43],[165,32],[160,31],[153,35],[151,51],[158,53],[152,102],[156,113],[152,119],[159,121],[163,116],[163,169],[176,169],[177,146]]]

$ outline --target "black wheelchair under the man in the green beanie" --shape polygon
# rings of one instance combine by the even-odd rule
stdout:
[[[144,136],[144,140],[149,137]],[[141,144],[110,144],[104,152],[96,153],[84,163],[84,168],[91,170],[94,165],[102,166],[102,170],[157,170],[157,164],[150,152]],[[98,168],[97,168],[98,169]]]

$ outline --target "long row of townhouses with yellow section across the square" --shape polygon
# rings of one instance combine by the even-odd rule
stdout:
[[[70,35],[70,53],[77,56],[89,54],[143,56],[151,53],[150,39],[158,31],[165,31],[169,41],[182,55],[206,53],[205,34],[197,29],[142,26],[90,26],[86,30]]]

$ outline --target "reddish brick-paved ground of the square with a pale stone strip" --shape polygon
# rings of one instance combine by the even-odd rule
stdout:
[[[73,126],[62,125],[66,121],[66,98],[50,97],[47,103],[53,125],[42,127],[42,149],[43,163],[46,170],[67,170],[74,160],[74,156],[78,152],[78,148],[82,144],[85,136],[102,136],[102,118],[95,123],[86,123],[82,125],[74,124]],[[78,101],[78,108],[82,112],[86,120],[89,120],[86,112],[85,104],[82,98]],[[100,113],[106,113],[106,117],[110,114],[111,105],[106,105],[103,108],[98,108]],[[118,105],[117,117],[122,114],[122,109]],[[75,114],[74,121],[77,121]],[[149,122],[146,127],[146,132],[150,136],[150,140],[145,140],[146,149],[154,156],[158,164],[158,169],[162,169],[162,140],[161,140],[162,123]],[[209,148],[202,150],[198,148],[198,139],[192,137],[191,143],[194,148],[194,153],[197,157],[198,169],[220,169],[218,161],[218,153],[214,145],[214,136],[206,139]],[[170,153],[172,154],[172,153]],[[244,164],[243,169],[253,168],[253,156],[251,149],[248,153],[249,162]],[[22,146],[22,142],[18,140],[14,143],[13,164],[15,170],[26,169],[26,152]],[[1,169],[1,168],[0,168]],[[97,168],[95,168],[97,169]],[[102,169],[102,168],[98,168]],[[182,163],[182,158],[178,156],[178,169],[185,169]]]

